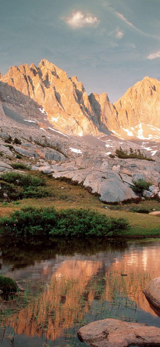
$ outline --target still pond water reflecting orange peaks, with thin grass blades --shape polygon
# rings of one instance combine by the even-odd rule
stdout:
[[[0,273],[26,288],[0,303],[3,347],[86,346],[77,330],[104,318],[160,327],[142,292],[160,276],[160,239],[0,240],[0,250]]]

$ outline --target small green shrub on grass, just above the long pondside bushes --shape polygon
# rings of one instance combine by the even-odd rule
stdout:
[[[51,196],[51,191],[45,187],[26,187],[20,194],[20,198],[42,198],[45,196]]]

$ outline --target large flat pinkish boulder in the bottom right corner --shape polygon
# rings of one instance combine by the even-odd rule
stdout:
[[[93,347],[160,346],[160,329],[116,319],[92,322],[78,331],[78,338]]]

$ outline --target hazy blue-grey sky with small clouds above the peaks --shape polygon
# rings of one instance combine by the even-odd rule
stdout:
[[[111,102],[160,79],[160,0],[0,0],[0,72],[48,59]]]

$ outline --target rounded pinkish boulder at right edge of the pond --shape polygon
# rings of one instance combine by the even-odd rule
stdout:
[[[153,213],[155,212],[151,212],[151,214]],[[155,307],[160,308],[160,277],[151,281],[143,293]]]

